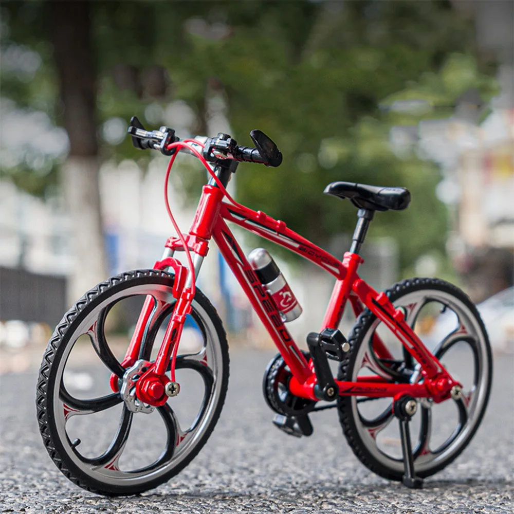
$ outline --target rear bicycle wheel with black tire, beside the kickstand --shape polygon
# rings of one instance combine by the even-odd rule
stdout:
[[[420,399],[420,408],[412,417],[414,467],[425,478],[450,464],[478,429],[491,389],[491,348],[476,307],[448,282],[404,280],[386,293],[433,355],[463,385],[458,400],[436,404]],[[389,351],[387,358],[377,355],[374,334]],[[419,364],[370,310],[359,316],[348,342],[351,348],[340,365],[340,380],[356,381],[371,371],[391,383],[422,381]],[[403,458],[392,399],[340,397],[338,410],[348,444],[359,460],[386,479],[401,480]]]

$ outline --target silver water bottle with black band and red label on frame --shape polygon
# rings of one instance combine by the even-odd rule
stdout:
[[[277,305],[282,321],[296,320],[302,314],[302,307],[269,252],[264,248],[255,248],[248,255],[248,261]]]

